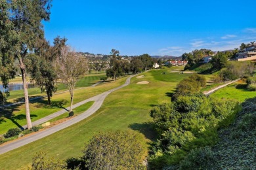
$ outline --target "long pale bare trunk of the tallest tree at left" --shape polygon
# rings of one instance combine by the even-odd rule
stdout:
[[[28,129],[31,129],[32,122],[31,122],[31,118],[30,118],[30,103],[28,100],[28,84],[26,82],[26,67],[21,58],[19,59],[19,63],[20,63],[20,71],[22,73],[22,82],[23,82],[23,88],[24,88],[27,126],[28,126]]]

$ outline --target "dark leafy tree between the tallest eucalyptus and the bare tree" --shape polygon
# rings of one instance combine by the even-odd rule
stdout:
[[[51,97],[56,92],[56,70],[53,61],[60,56],[61,49],[66,45],[66,38],[56,37],[54,46],[42,39],[38,42],[39,47],[35,49],[35,54],[30,54],[27,65],[32,79],[40,86],[41,93],[47,93],[48,104],[51,105]]]

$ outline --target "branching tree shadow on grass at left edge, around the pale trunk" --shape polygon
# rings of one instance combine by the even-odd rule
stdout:
[[[13,124],[15,124],[18,128],[20,129],[24,129],[20,124],[18,124],[18,120],[24,120],[26,119],[26,114],[18,114],[15,115],[13,112],[14,111],[19,111],[19,109],[17,109],[20,105],[12,105],[11,107],[5,107],[3,109],[0,110],[0,124],[3,122],[6,122],[5,119],[9,119],[12,121]],[[37,115],[35,114],[30,114],[30,117],[37,117]]]

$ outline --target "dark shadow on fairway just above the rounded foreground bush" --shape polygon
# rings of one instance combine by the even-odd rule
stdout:
[[[135,131],[139,131],[147,139],[150,139],[151,141],[156,141],[156,139],[158,137],[158,134],[156,133],[156,131],[154,129],[153,122],[143,122],[141,124],[135,123],[135,124],[130,124],[128,127]]]

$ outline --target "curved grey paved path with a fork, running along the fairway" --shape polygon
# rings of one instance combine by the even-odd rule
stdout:
[[[135,76],[135,75],[133,75]],[[89,99],[86,99],[85,101],[81,101],[79,103],[76,103],[74,105],[74,107],[78,107],[79,105],[83,105],[85,103],[87,103],[88,101],[95,101],[95,103],[93,103],[93,105],[86,110],[85,112],[83,112],[82,114],[79,114],[78,116],[75,116],[74,118],[63,122],[61,124],[58,124],[56,126],[53,126],[49,129],[45,129],[43,131],[40,131],[38,133],[35,133],[34,135],[28,136],[28,137],[24,137],[23,139],[14,141],[12,143],[8,143],[8,144],[3,144],[3,146],[0,146],[0,154],[4,154],[5,152],[9,152],[10,150],[14,150],[15,148],[18,148],[20,146],[24,146],[28,143],[32,143],[33,141],[37,141],[38,139],[42,139],[43,137],[47,137],[48,135],[51,135],[57,131],[60,131],[66,127],[72,126],[74,124],[76,124],[77,122],[80,122],[81,120],[91,116],[93,113],[96,112],[96,110],[100,109],[100,106],[102,105],[104,99],[106,98],[107,95],[109,95],[110,93],[119,90],[120,88],[123,88],[125,86],[127,86],[128,84],[130,84],[130,80],[133,76],[129,76],[129,78],[127,78],[125,84],[117,87],[117,88],[113,88],[112,90],[108,90],[107,92],[101,93],[99,95],[96,95],[95,97],[91,97]],[[41,124],[43,122],[47,122],[47,120],[51,120],[52,118],[62,114],[66,112],[66,110],[60,110],[59,112],[55,112],[54,114],[51,114],[45,118],[42,118],[41,120],[37,120],[35,122],[33,122],[33,125],[36,124]]]

